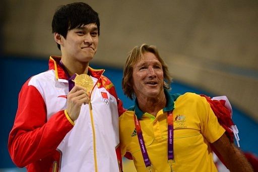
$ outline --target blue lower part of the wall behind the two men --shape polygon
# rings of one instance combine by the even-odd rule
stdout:
[[[1,168],[15,167],[7,149],[7,142],[9,132],[12,129],[15,114],[17,110],[18,94],[24,84],[32,75],[48,70],[48,61],[36,60],[32,58],[17,58],[15,56],[0,59],[0,72],[2,74],[1,88],[1,119],[2,125],[0,130],[0,171]],[[91,65],[96,69],[104,68],[104,73],[115,85],[118,97],[123,101],[125,108],[133,105],[133,101],[129,100],[123,95],[121,88],[122,69],[115,69],[111,67],[103,67],[98,65]],[[206,94],[214,96],[212,93],[204,92],[198,88],[185,85],[178,81],[172,83],[172,93],[196,92],[198,94]],[[219,95],[216,95],[219,96]],[[240,146],[243,151],[252,152],[258,155],[256,137],[258,133],[258,124],[251,120],[240,109],[233,107],[233,121],[237,125],[240,137]]]

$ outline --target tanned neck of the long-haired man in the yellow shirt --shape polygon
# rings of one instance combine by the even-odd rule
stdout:
[[[137,97],[139,108],[144,111],[157,116],[159,110],[163,109],[166,106],[166,96],[164,91],[160,96],[155,98],[142,98]]]

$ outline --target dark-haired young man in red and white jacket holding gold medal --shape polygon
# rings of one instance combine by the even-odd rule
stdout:
[[[89,67],[100,34],[98,13],[85,3],[61,6],[52,20],[61,56],[31,77],[19,94],[9,152],[28,171],[119,171],[118,115],[104,70]]]

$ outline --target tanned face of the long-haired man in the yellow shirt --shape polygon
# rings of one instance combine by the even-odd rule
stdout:
[[[133,66],[133,89],[136,97],[155,98],[163,91],[163,70],[156,55],[145,52]]]

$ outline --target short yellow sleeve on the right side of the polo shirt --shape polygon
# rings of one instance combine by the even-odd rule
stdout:
[[[225,129],[219,124],[217,117],[215,116],[210,104],[202,97],[203,110],[201,113],[201,131],[205,138],[213,143],[218,140],[225,132]],[[202,108],[199,108],[202,109]]]

